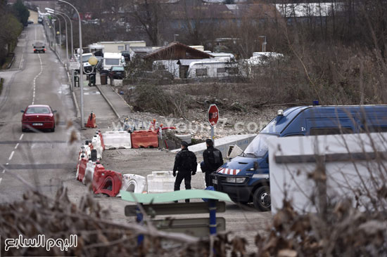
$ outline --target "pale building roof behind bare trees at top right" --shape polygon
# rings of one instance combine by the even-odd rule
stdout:
[[[332,11],[343,9],[343,3],[297,3],[275,6],[284,17],[326,17],[330,16]]]

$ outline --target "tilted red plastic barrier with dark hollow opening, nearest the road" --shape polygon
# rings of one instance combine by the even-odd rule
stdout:
[[[107,171],[101,164],[96,165],[93,176],[94,194],[106,194],[115,197],[122,186],[122,174],[116,171]]]

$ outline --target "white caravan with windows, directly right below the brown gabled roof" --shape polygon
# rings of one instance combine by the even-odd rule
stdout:
[[[187,78],[236,77],[239,75],[237,62],[200,60],[189,64]]]

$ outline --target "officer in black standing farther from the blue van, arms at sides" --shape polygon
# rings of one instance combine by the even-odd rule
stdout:
[[[196,155],[188,150],[188,144],[183,141],[182,150],[176,154],[175,165],[173,166],[173,176],[176,177],[175,191],[180,190],[183,179],[186,190],[191,189],[191,174],[192,176],[196,174],[197,166]],[[176,171],[178,171],[177,175]],[[189,202],[189,199],[186,199],[186,202]]]

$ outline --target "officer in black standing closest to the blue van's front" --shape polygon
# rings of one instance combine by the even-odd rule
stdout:
[[[201,162],[201,170],[205,172],[205,186],[212,185],[211,173],[217,171],[223,165],[222,152],[214,147],[212,140],[205,140],[207,149],[203,152],[203,162]]]

